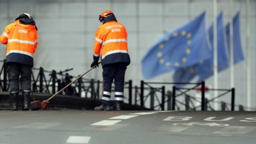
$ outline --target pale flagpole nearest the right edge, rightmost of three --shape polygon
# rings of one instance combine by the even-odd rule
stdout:
[[[250,110],[250,0],[246,1],[246,73],[247,73],[247,107]]]

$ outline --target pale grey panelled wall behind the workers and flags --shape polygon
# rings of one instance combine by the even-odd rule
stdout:
[[[229,18],[229,1],[218,1],[218,12]],[[256,1],[250,0],[250,55],[252,106],[256,107]],[[100,25],[98,15],[111,9],[119,22],[124,24],[129,35],[131,65],[127,68],[126,80],[133,80],[139,86],[143,79],[141,59],[150,47],[168,31],[185,24],[203,10],[207,12],[207,25],[212,23],[211,0],[0,0],[0,31],[14,21],[20,13],[33,15],[38,26],[39,45],[35,53],[36,68],[70,71],[78,76],[90,67],[93,57],[95,30]],[[241,37],[246,54],[246,1],[234,0],[233,12],[241,11]],[[2,32],[0,32],[2,33]],[[6,47],[0,45],[0,60],[5,58]],[[246,61],[234,67],[236,104],[247,105]],[[156,77],[151,82],[172,82],[173,72]],[[102,79],[102,68],[93,70],[85,78]],[[206,84],[213,87],[214,80]],[[230,72],[218,75],[218,88],[230,88]],[[229,99],[229,98],[228,98]]]

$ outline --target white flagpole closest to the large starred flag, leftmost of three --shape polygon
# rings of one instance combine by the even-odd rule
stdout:
[[[217,0],[214,0],[214,89],[218,89],[218,62],[217,62]],[[215,110],[218,110],[218,91],[214,90],[214,103]]]

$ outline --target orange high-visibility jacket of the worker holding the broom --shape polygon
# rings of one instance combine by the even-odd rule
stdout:
[[[95,34],[94,61],[99,60],[99,55],[102,58],[102,66],[116,62],[130,64],[124,25],[110,21],[99,26]]]

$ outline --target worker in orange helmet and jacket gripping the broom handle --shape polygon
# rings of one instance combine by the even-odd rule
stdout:
[[[127,47],[127,33],[125,26],[118,23],[111,10],[105,10],[99,15],[103,23],[97,29],[94,42],[93,62],[90,67],[98,66],[101,57],[103,68],[103,95],[100,97],[102,105],[94,110],[121,110],[124,102],[124,79],[126,67],[130,64]],[[115,84],[115,103],[110,105],[111,85]]]

